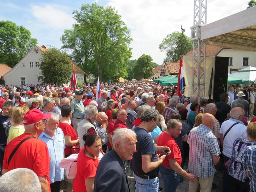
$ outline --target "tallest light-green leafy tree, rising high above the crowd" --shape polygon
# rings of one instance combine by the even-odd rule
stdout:
[[[78,26],[86,30],[92,43],[90,72],[99,79],[127,77],[131,58],[130,31],[112,7],[93,3],[73,12]]]

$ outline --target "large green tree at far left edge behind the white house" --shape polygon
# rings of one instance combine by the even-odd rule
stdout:
[[[0,63],[14,67],[36,44],[28,29],[12,21],[0,21]]]

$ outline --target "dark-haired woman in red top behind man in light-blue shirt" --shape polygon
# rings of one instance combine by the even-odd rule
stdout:
[[[62,129],[65,138],[66,148],[64,149],[65,156],[68,157],[72,152],[72,146],[79,144],[79,139],[76,135],[76,131],[69,124],[69,118],[72,118],[72,110],[69,105],[64,105],[61,107],[62,119],[59,123],[59,128]]]

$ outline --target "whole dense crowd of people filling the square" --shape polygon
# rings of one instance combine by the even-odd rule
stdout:
[[[0,192],[130,192],[128,163],[135,192],[175,192],[184,178],[210,192],[220,159],[223,191],[254,192],[255,93],[241,89],[181,103],[176,87],[144,81],[101,83],[99,99],[95,84],[0,85]],[[69,179],[60,164],[74,154]]]

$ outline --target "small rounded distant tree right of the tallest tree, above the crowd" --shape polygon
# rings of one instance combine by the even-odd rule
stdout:
[[[150,55],[143,54],[140,56],[133,67],[134,78],[140,80],[148,79],[154,72],[154,63]]]

